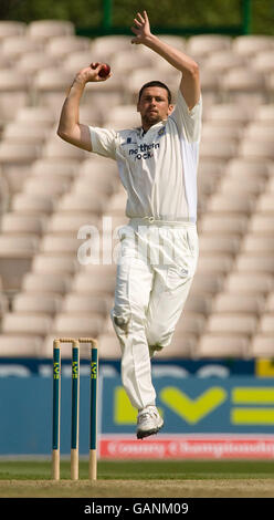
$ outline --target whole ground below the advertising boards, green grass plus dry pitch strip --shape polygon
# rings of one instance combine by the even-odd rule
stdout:
[[[70,480],[70,461],[61,480],[51,480],[51,462],[0,461],[1,498],[273,498],[273,461],[99,461],[98,479]]]

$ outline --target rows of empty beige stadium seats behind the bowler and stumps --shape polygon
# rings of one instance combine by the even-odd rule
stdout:
[[[273,357],[274,38],[162,39],[200,65],[203,129],[198,270],[157,357]],[[176,102],[180,74],[129,42],[80,38],[66,21],[0,22],[0,356],[52,356],[54,335],[95,335],[103,358],[120,356],[109,310],[126,194],[115,162],[64,143],[56,126],[91,61],[114,74],[87,86],[85,124],[138,126],[136,95],[151,79]]]

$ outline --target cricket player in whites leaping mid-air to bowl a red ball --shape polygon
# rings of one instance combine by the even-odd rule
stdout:
[[[198,261],[202,102],[198,64],[151,33],[146,11],[136,15],[131,31],[131,43],[146,45],[181,72],[176,107],[168,86],[151,81],[139,92],[139,127],[114,131],[81,124],[78,106],[85,84],[110,76],[103,80],[103,64],[93,63],[76,74],[57,134],[80,148],[116,160],[127,191],[129,221],[119,231],[112,320],[122,347],[122,381],[138,410],[137,438],[144,438],[164,425],[156,407],[150,360],[171,342]]]

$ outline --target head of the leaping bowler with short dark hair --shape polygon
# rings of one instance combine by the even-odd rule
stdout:
[[[160,86],[148,86],[145,89],[137,104],[137,111],[140,113],[145,131],[156,123],[167,119],[172,110],[173,106],[168,103],[166,89]]]

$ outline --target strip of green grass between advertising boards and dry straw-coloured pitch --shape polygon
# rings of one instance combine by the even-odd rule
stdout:
[[[70,479],[70,461],[61,462],[61,478]],[[88,478],[88,462],[80,462],[80,478]],[[274,461],[98,461],[98,480],[273,478]],[[0,480],[51,479],[51,462],[0,461]]]

